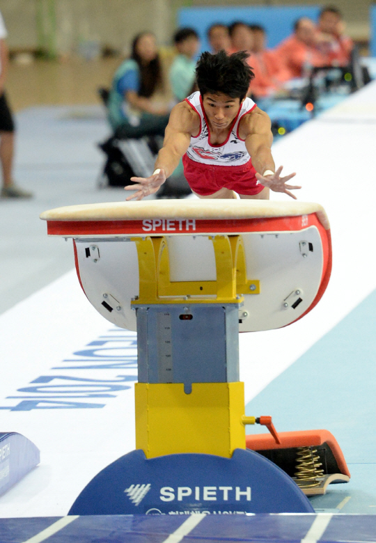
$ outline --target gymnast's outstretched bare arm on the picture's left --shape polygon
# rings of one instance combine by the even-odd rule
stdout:
[[[136,184],[125,187],[126,191],[136,192],[127,200],[142,200],[149,194],[155,194],[177,168],[181,157],[185,154],[191,141],[191,134],[200,129],[198,114],[185,102],[176,105],[171,111],[169,124],[166,127],[164,143],[155,161],[155,171],[150,178],[131,178]]]

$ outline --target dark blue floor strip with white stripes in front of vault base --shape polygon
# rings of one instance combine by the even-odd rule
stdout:
[[[193,517],[198,516],[111,515],[78,517],[72,521],[69,517],[61,520],[51,517],[0,519],[0,536],[1,543],[39,543],[45,540],[49,543],[370,543],[376,540],[376,517],[366,515]],[[69,524],[63,526],[67,519]],[[57,530],[56,533],[45,533],[47,537],[43,537],[43,530],[49,527],[52,532]]]

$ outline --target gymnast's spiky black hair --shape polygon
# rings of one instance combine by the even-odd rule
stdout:
[[[246,59],[249,54],[238,51],[228,55],[225,51],[211,54],[205,51],[196,65],[196,81],[201,96],[223,93],[230,98],[243,98],[255,77]]]

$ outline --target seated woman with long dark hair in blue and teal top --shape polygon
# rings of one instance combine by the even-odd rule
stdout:
[[[130,58],[116,70],[109,93],[109,122],[117,137],[164,135],[169,109],[152,102],[162,86],[155,36],[143,32],[134,38]]]

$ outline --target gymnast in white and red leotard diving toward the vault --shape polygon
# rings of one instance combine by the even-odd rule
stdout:
[[[269,199],[269,190],[295,198],[272,157],[269,116],[246,97],[254,74],[241,51],[204,52],[196,66],[198,91],[171,111],[164,145],[149,178],[132,178],[127,200],[157,192],[183,159],[185,178],[199,198]]]

